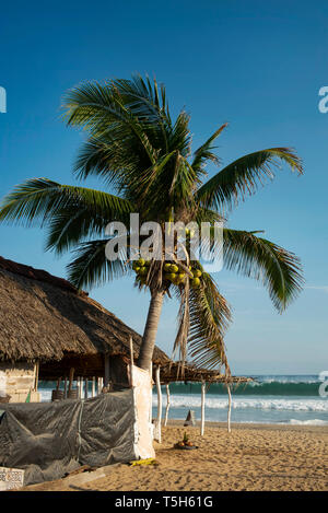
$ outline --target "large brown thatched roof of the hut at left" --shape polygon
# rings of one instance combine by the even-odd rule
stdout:
[[[0,360],[59,361],[65,355],[138,357],[141,336],[61,278],[0,257]],[[155,348],[153,361],[168,362]]]

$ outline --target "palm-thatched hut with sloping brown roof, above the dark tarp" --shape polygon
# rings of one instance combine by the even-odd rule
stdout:
[[[103,378],[128,385],[141,336],[86,292],[50,273],[0,257],[0,395],[39,400],[38,380]],[[165,365],[159,348],[153,362]]]

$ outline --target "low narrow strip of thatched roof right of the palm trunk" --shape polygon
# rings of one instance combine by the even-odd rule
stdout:
[[[200,369],[192,363],[180,362],[167,362],[161,365],[160,378],[162,384],[168,384],[171,382],[207,382],[207,383],[247,383],[251,382],[251,377],[244,376],[230,376],[229,378],[224,374],[220,374],[219,371]]]

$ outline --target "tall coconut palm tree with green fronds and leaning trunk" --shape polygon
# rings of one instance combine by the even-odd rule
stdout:
[[[266,178],[273,178],[278,164],[285,163],[302,174],[301,160],[291,149],[270,148],[242,156],[206,180],[207,163],[220,165],[213,144],[225,125],[191,154],[189,116],[180,112],[173,120],[164,86],[140,75],[104,84],[87,82],[72,89],[63,101],[63,117],[68,126],[83,128],[87,133],[74,174],[80,179],[97,176],[106,191],[46,178],[28,179],[3,199],[0,220],[45,226],[46,248],[57,254],[73,248],[68,278],[78,288],[137,272],[136,284],[148,288],[151,294],[138,361],[142,369],[150,368],[163,299],[173,293],[180,301],[174,348],[179,348],[181,360],[188,342],[197,363],[209,368],[224,364],[229,372],[223,337],[231,311],[201,263],[189,261],[190,233],[184,246],[185,258],[176,257],[175,244],[171,265],[177,268],[168,272],[164,254],[159,260],[139,260],[138,265],[129,259],[131,231],[119,258],[108,260],[105,247],[113,237],[104,236],[104,229],[112,221],[129,226],[133,212],[139,213],[140,224],[157,222],[161,236],[173,220],[213,225]],[[208,237],[211,247],[212,233]],[[282,312],[302,288],[300,261],[257,233],[225,228],[224,266],[262,281]],[[177,238],[174,241],[177,243]],[[140,248],[133,249],[138,253]]]

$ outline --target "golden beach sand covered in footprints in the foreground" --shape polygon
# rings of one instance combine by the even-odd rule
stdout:
[[[184,431],[195,451],[173,448]],[[327,490],[328,428],[305,425],[207,424],[172,422],[155,443],[157,466],[114,465],[94,473],[25,487],[40,491],[223,491]],[[103,477],[102,477],[103,476]]]

